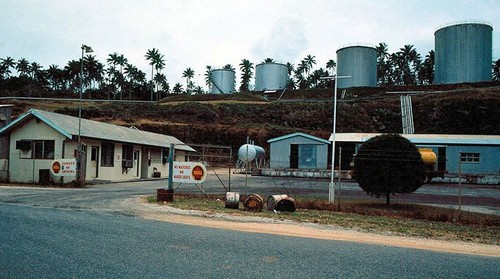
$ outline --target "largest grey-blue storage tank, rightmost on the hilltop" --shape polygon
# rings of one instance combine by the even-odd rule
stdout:
[[[434,83],[491,80],[493,27],[486,23],[448,24],[434,32]]]

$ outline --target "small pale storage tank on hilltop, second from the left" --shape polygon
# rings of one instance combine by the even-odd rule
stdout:
[[[255,66],[255,91],[281,90],[288,83],[288,66],[280,63],[261,63]]]

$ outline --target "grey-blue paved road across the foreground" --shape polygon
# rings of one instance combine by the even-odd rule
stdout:
[[[17,194],[25,202],[5,200],[6,195],[0,200],[0,278],[499,276],[498,258],[144,220],[118,208],[94,208],[106,203],[109,193],[102,188],[26,191]],[[98,192],[104,193],[100,202]],[[63,194],[80,199],[88,194],[80,206],[93,208],[63,207]],[[53,206],[47,202],[51,197]]]

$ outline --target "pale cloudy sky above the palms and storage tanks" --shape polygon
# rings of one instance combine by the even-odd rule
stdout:
[[[314,69],[326,68],[350,44],[384,42],[390,53],[409,44],[424,58],[439,27],[464,21],[492,25],[500,59],[500,0],[0,0],[0,58],[63,68],[85,44],[101,63],[123,54],[149,80],[144,56],[156,48],[171,87],[185,87],[188,67],[204,86],[207,65],[233,65],[239,83],[242,59],[298,64],[313,55]]]

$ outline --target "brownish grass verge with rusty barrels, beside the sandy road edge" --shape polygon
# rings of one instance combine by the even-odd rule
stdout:
[[[156,196],[147,198],[157,202]],[[447,241],[465,241],[500,245],[500,217],[461,212],[425,205],[343,201],[341,207],[318,199],[296,200],[295,212],[261,212],[225,208],[224,196],[175,195],[171,203],[159,203],[179,209],[200,210],[241,216],[258,216],[303,223],[333,225],[346,229],[384,235],[423,237]]]

